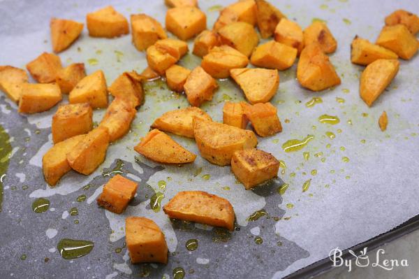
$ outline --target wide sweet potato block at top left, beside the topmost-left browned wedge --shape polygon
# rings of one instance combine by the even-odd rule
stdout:
[[[86,21],[92,37],[114,38],[129,33],[128,20],[112,6],[88,13]]]

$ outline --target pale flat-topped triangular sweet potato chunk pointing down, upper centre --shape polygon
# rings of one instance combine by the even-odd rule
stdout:
[[[279,87],[278,70],[233,69],[230,75],[242,88],[250,103],[266,103],[277,93]]]

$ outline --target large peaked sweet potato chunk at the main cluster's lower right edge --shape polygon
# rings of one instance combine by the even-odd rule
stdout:
[[[312,91],[321,91],[339,85],[341,80],[318,43],[311,43],[302,50],[297,66],[297,80]]]

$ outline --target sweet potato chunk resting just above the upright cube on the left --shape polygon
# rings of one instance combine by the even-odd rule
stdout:
[[[108,106],[108,90],[103,71],[98,70],[82,78],[68,96],[70,103],[89,103],[91,108]]]

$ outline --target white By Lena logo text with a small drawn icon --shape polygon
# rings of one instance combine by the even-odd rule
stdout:
[[[372,267],[379,267],[381,269],[391,271],[396,266],[409,266],[407,259],[382,259],[383,255],[385,255],[385,251],[382,248],[376,251],[376,259],[375,261],[371,260],[371,262],[369,261],[369,256],[367,255],[367,247],[360,251],[359,255],[356,255],[353,250],[348,250],[348,252],[355,258],[355,266],[359,267],[370,266],[371,264]],[[333,263],[332,266],[346,266],[348,268],[348,272],[351,272],[354,259],[343,259],[342,255],[343,253],[338,247],[330,250],[329,259]]]

